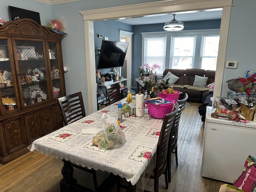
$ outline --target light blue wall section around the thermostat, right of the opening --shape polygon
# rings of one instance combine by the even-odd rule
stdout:
[[[237,61],[237,68],[224,68],[221,96],[227,96],[227,80],[244,77],[247,70],[256,70],[255,0],[233,0],[228,33],[226,61]]]

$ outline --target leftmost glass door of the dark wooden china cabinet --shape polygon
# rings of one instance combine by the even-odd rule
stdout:
[[[11,54],[9,54],[7,39],[0,38],[0,109],[1,114],[8,114],[18,110],[19,101],[16,100],[18,91],[15,77],[15,68]]]

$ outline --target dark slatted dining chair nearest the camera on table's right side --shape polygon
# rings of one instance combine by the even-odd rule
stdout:
[[[172,124],[176,113],[178,112],[179,104],[176,102],[175,110],[164,117],[164,122],[162,124],[160,136],[158,139],[157,149],[156,149],[156,166],[150,175],[150,179],[154,179],[154,192],[158,192],[159,187],[159,177],[164,174],[165,185],[168,189],[168,178],[167,178],[167,154],[168,154],[168,143],[171,133]]]

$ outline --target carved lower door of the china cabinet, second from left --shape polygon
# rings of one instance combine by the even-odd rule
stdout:
[[[39,112],[25,115],[28,144],[32,143],[34,140],[42,136],[42,133],[40,131],[40,119],[38,117]]]

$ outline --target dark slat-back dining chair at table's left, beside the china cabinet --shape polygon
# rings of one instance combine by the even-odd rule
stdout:
[[[86,116],[81,92],[58,98],[58,103],[62,111],[65,126]],[[96,171],[94,169],[88,169],[74,163],[71,164],[76,168],[92,173],[94,188],[95,190],[98,189]]]

